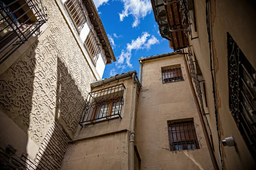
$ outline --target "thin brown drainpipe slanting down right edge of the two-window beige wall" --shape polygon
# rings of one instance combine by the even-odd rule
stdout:
[[[206,125],[205,125],[205,122],[204,122],[204,118],[203,118],[203,114],[202,114],[200,106],[198,104],[198,98],[197,98],[197,96],[195,94],[195,89],[194,89],[194,87],[192,85],[192,80],[191,80],[191,77],[189,75],[189,71],[188,71],[188,69],[189,69],[188,67],[189,66],[187,65],[185,55],[183,55],[183,59],[184,59],[185,67],[186,67],[186,73],[187,73],[188,79],[189,79],[189,85],[190,85],[192,94],[194,96],[195,105],[196,105],[196,108],[198,110],[199,119],[200,119],[200,122],[202,124],[202,128],[203,128],[206,144],[207,144],[207,147],[208,147],[208,150],[209,150],[209,154],[210,154],[210,157],[211,157],[211,160],[212,160],[212,165],[213,165],[214,170],[219,170],[218,164],[217,164],[217,161],[216,161],[216,158],[215,158],[215,155],[214,155],[214,152],[212,150],[212,145],[210,143],[209,135],[208,135],[208,132],[207,132],[207,129],[206,129]]]

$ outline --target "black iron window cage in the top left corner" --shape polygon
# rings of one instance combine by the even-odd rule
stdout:
[[[47,21],[41,0],[0,1],[0,64]]]

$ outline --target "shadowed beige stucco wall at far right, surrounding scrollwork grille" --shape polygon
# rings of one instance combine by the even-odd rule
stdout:
[[[212,80],[210,75],[209,43],[206,27],[205,1],[195,0],[197,34],[198,39],[190,40],[198,64],[201,68],[207,89],[207,101],[209,108],[209,119],[215,147],[215,156],[219,167],[220,157],[218,152],[218,136],[214,114]],[[214,56],[215,86],[217,94],[218,114],[220,117],[221,139],[233,136],[235,138],[238,152],[234,147],[222,147],[224,157],[224,168],[229,169],[251,169],[255,163],[247,149],[244,140],[229,111],[228,91],[228,56],[227,56],[227,32],[233,37],[244,55],[256,68],[256,48],[254,33],[256,20],[255,5],[248,1],[239,0],[212,0],[211,1],[211,24],[212,24],[212,48]],[[192,25],[192,30],[193,30]]]

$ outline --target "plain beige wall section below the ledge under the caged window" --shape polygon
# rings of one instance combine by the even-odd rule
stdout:
[[[128,132],[70,144],[61,170],[128,170]]]

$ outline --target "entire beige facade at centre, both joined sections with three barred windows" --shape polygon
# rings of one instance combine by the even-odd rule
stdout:
[[[69,142],[61,170],[214,169],[183,55],[151,59],[142,64],[142,87],[138,79],[132,78],[136,71],[92,83],[90,95],[96,93],[102,99],[97,95],[98,102],[90,99],[84,107],[87,111],[103,107],[100,101],[105,102],[103,94],[108,95],[99,91],[125,86],[122,119],[94,122],[92,116],[89,123],[79,126]],[[163,84],[161,67],[178,64],[184,80]],[[80,121],[87,120],[86,117]],[[193,120],[198,149],[170,150],[168,123],[180,120]]]

